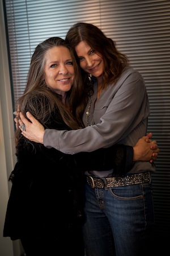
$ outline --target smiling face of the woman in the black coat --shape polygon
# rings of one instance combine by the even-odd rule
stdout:
[[[49,88],[58,94],[65,94],[74,81],[74,67],[71,53],[64,46],[56,46],[46,51],[44,80]]]

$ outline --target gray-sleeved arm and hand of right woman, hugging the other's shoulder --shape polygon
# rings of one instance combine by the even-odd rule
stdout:
[[[99,99],[100,102],[97,102],[100,104],[100,108],[96,112],[99,113],[95,119],[96,125],[71,131],[46,129],[38,131],[38,133],[36,125],[29,125],[23,135],[32,141],[44,143],[44,146],[54,147],[66,154],[90,152],[116,143],[134,146],[138,138],[146,133],[147,117],[150,112],[142,77],[138,75],[138,72],[128,73],[126,76],[123,81],[111,86],[104,93],[103,99],[101,101]],[[104,109],[105,112],[100,111],[101,109]],[[27,117],[29,118],[30,115],[27,114]],[[142,125],[143,121],[145,123],[140,129],[139,125]],[[28,124],[25,123],[25,125]],[[139,127],[140,133],[135,132],[134,136],[131,132],[137,127]],[[31,131],[32,137],[29,137],[29,131]],[[131,137],[130,143],[121,142],[128,136]]]

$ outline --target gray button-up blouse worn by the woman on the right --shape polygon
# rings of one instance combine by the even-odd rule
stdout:
[[[89,99],[83,115],[84,125],[79,130],[46,129],[44,146],[54,147],[66,154],[91,152],[115,143],[134,146],[138,139],[146,135],[150,106],[142,75],[133,68],[127,68],[114,85],[109,85],[97,98],[97,82],[94,94]],[[135,162],[131,173],[155,171],[155,164]],[[100,176],[110,176],[111,172],[100,172]],[[94,175],[99,173],[94,171]]]

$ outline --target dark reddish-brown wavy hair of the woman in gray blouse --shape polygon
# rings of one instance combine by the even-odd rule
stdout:
[[[118,51],[116,43],[107,38],[94,24],[78,22],[67,32],[66,41],[74,49],[82,41],[86,42],[104,61],[103,82],[104,86],[114,84],[125,67],[129,64],[128,57]],[[90,74],[84,72],[84,80],[88,80]]]

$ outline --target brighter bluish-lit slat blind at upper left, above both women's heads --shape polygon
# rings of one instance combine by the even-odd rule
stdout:
[[[32,53],[50,36],[65,38],[76,21],[100,24],[99,1],[34,1],[7,0],[6,15],[14,100],[23,94]],[[88,14],[88,15],[87,15]],[[98,21],[98,22],[97,22]]]

